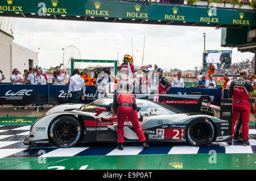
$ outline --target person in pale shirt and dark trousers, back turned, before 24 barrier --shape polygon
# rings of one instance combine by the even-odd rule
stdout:
[[[85,84],[84,79],[82,79],[79,75],[79,69],[74,69],[73,76],[70,78],[69,89],[67,93],[67,97],[72,92],[72,103],[81,103],[81,99],[85,99]]]

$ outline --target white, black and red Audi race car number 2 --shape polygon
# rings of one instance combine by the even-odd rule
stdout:
[[[205,146],[231,141],[229,121],[203,111],[203,95],[135,95],[138,119],[147,141],[188,142]],[[79,142],[117,142],[117,119],[112,117],[113,94],[90,104],[61,104],[36,120],[25,145],[57,145],[69,148]],[[125,142],[138,142],[127,117]]]

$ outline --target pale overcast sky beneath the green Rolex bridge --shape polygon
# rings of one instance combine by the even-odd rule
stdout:
[[[221,30],[207,27],[157,26],[125,23],[96,23],[67,20],[18,18],[14,42],[39,52],[39,66],[57,66],[63,60],[62,48],[76,45],[82,59],[122,60],[132,54],[134,64],[157,64],[163,69],[195,69],[202,65],[203,33],[206,33],[207,50],[233,50],[232,62],[253,57],[253,53],[240,53],[237,48],[221,47]],[[65,59],[73,50],[67,51]],[[65,60],[67,61],[67,60]],[[121,63],[121,62],[120,62]],[[85,68],[88,64],[82,64]]]

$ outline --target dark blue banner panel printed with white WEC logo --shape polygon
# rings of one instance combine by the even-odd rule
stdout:
[[[48,85],[0,85],[1,104],[48,104]]]

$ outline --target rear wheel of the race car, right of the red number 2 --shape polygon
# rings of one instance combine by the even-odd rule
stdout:
[[[193,146],[206,146],[214,138],[213,123],[206,117],[198,117],[188,124],[187,142]]]

